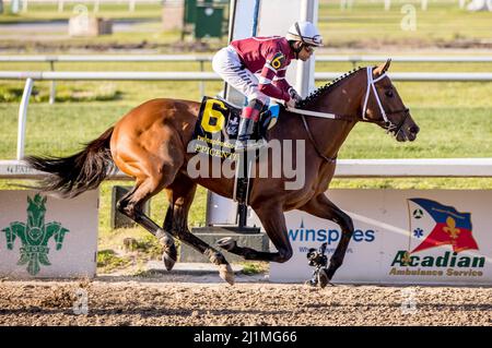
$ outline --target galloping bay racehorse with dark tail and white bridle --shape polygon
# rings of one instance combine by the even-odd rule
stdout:
[[[321,273],[326,285],[343,262],[353,233],[349,215],[325,195],[333,177],[337,154],[359,121],[373,122],[387,130],[397,141],[413,141],[419,127],[412,120],[397,89],[386,75],[390,61],[378,67],[354,70],[318,88],[298,105],[303,109],[280,112],[278,124],[268,132],[269,140],[305,141],[305,184],[285,190],[286,178],[251,179],[249,205],[259,217],[277,251],[263,252],[243,248],[232,239],[219,247],[246,260],[285,262],[292,256],[283,213],[304,211],[340,225],[342,238]],[[168,271],[176,262],[174,238],[185,242],[219,266],[220,276],[230,284],[234,275],[223,254],[194,236],[187,224],[188,212],[200,184],[222,196],[232,197],[234,178],[191,178],[187,163],[196,154],[187,152],[200,104],[177,99],[152,99],[136,107],[84,149],[69,157],[28,156],[25,160],[48,173],[37,189],[73,197],[95,189],[115,166],[134,178],[133,189],[118,203],[119,212],[133,219],[164,247],[163,261]],[[269,149],[270,151],[270,149]],[[271,156],[269,156],[271,167]],[[271,171],[270,171],[271,172]],[[169,206],[163,226],[143,214],[143,204],[165,190]]]

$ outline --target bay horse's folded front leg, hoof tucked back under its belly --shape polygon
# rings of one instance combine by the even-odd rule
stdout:
[[[225,249],[230,253],[241,255],[246,260],[271,261],[280,263],[289,261],[292,257],[292,247],[289,241],[285,218],[279,206],[280,204],[276,204],[274,207],[271,205],[265,205],[255,211],[261,220],[265,231],[272,241],[273,245],[276,245],[278,252],[265,252],[247,247],[239,247],[235,240],[229,237],[219,240],[219,247]]]

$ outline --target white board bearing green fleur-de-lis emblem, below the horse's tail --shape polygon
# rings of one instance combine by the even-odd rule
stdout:
[[[97,202],[97,191],[72,200],[0,191],[0,276],[94,276]]]

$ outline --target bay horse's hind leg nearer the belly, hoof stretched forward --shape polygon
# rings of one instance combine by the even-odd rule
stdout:
[[[197,184],[189,178],[178,175],[175,181],[165,189],[169,206],[164,219],[164,230],[176,236],[180,241],[209,257],[219,266],[219,274],[229,284],[234,284],[234,273],[224,255],[208,243],[192,235],[188,229],[188,212],[194,201]]]

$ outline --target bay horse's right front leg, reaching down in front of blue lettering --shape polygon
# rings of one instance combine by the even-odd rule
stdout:
[[[313,197],[306,205],[300,209],[309,213],[314,216],[329,219],[338,224],[342,230],[342,237],[338,242],[337,249],[330,259],[330,265],[326,269],[327,281],[331,280],[337,269],[342,265],[345,256],[347,248],[349,247],[350,239],[353,235],[352,218],[343,213],[338,206],[336,206],[330,200],[326,197],[324,193]],[[326,286],[326,284],[321,284]]]

